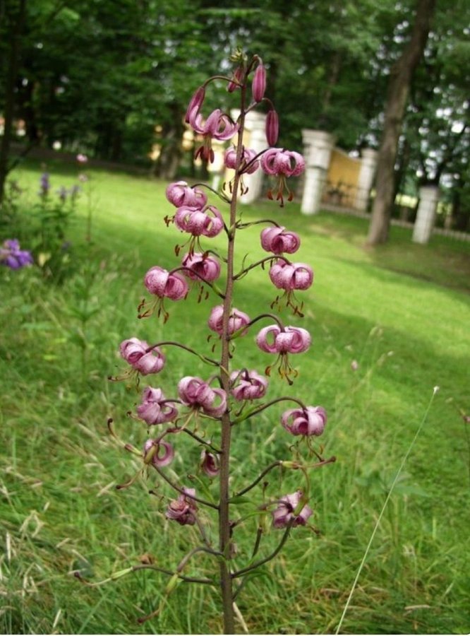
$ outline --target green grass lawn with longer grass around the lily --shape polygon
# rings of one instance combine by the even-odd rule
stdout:
[[[59,162],[49,172],[54,188],[76,177]],[[26,213],[39,174],[35,163],[15,173]],[[164,519],[162,497],[169,491],[155,474],[115,489],[138,471],[139,461],[109,437],[107,418],[114,418],[125,442],[141,447],[147,436],[143,423],[126,416],[138,393],[107,377],[125,367],[116,351],[131,336],[181,341],[210,355],[205,323],[218,304],[212,298],[197,303],[193,293],[168,305],[166,325],[156,317],[138,321],[145,271],[176,266],[174,245],[182,235],[164,224],[173,213],[164,184],[98,170],[91,184],[91,245],[83,242],[85,196],[68,232],[80,255],[73,276],[54,285],[37,268],[0,271],[0,630],[217,633],[222,617],[210,586],[181,584],[161,616],[138,625],[137,618],[158,606],[167,577],[142,571],[90,588],[71,574],[80,569],[97,582],[149,554],[171,570],[197,541],[194,529]],[[263,201],[243,208],[243,218],[273,218],[301,234],[295,260],[313,265],[315,283],[299,293],[303,321],[283,317],[305,326],[313,346],[294,360],[300,371],[294,386],[273,375],[268,395],[323,405],[329,419],[319,441],[325,456],[337,457],[311,477],[313,523],[321,534],[295,529],[282,555],[241,591],[237,604],[248,630],[335,632],[387,492],[438,386],[342,632],[469,632],[470,431],[460,411],[470,414],[470,245],[442,237],[414,245],[409,230],[392,228],[390,242],[371,249],[364,245],[363,220],[306,217],[298,204],[280,209]],[[30,225],[14,229],[8,237],[15,233],[28,248]],[[239,232],[239,265],[245,254],[247,262],[263,257],[259,231],[258,225]],[[222,240],[210,245],[221,248]],[[251,317],[270,311],[274,294],[266,270],[252,271],[238,287],[236,307]],[[175,394],[183,375],[210,374],[188,353],[168,347],[165,354],[156,386],[166,394]],[[237,341],[235,368],[263,370],[270,361],[252,336]],[[273,459],[289,459],[292,439],[279,424],[284,408],[275,406],[235,430],[234,490]],[[179,437],[174,464],[164,470],[186,484],[200,451],[189,436]],[[299,480],[296,473],[272,471],[268,488],[291,493]],[[147,494],[150,488],[157,496]],[[260,489],[253,493],[261,496]],[[242,505],[236,514],[248,510]],[[210,515],[203,515],[208,522]],[[249,558],[255,523],[236,535],[237,567]],[[269,524],[267,530],[262,555],[279,540]],[[195,555],[186,572],[207,576],[214,566],[210,556]]]

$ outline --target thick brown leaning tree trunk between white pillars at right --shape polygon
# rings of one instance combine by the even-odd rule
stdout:
[[[401,57],[392,66],[385,105],[385,123],[378,153],[376,195],[370,220],[368,243],[388,239],[394,203],[394,165],[411,79],[428,40],[435,0],[418,0],[413,30]]]

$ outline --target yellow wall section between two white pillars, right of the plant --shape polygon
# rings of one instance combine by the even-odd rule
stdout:
[[[360,159],[349,157],[344,151],[334,148],[327,171],[323,201],[342,206],[354,206],[359,170],[361,170]]]

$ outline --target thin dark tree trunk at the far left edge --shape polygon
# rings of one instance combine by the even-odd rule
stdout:
[[[10,46],[8,49],[8,67],[6,75],[4,134],[0,143],[0,204],[4,199],[8,158],[13,137],[13,116],[15,111],[15,88],[18,81],[18,61],[20,58],[20,36],[25,23],[26,0],[19,0],[16,16],[11,16]]]

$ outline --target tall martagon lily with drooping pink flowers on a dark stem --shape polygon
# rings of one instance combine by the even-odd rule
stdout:
[[[311,525],[313,502],[309,473],[335,461],[335,457],[322,457],[321,448],[315,448],[313,443],[314,438],[323,433],[327,421],[322,406],[304,404],[301,399],[289,396],[266,397],[270,379],[279,376],[289,385],[294,382],[297,371],[291,366],[291,356],[305,353],[311,346],[308,331],[301,326],[284,324],[279,312],[285,309],[296,319],[302,317],[302,302],[296,299],[294,292],[301,294],[310,288],[313,271],[308,264],[289,259],[300,247],[301,241],[296,232],[279,226],[275,220],[244,223],[237,204],[245,189],[243,175],[263,170],[277,179],[277,184],[267,196],[284,205],[286,196],[288,200],[293,197],[287,178],[301,174],[304,161],[299,153],[276,147],[279,118],[272,102],[265,98],[266,70],[263,61],[256,55],[248,59],[242,52],[236,52],[231,61],[235,66],[231,76],[209,78],[195,91],[188,105],[186,122],[202,136],[203,144],[195,154],[207,162],[214,159],[212,139],[228,141],[235,138],[234,145],[225,153],[225,163],[234,170],[234,178],[230,187],[223,188],[220,193],[203,184],[190,187],[186,182],[176,182],[169,185],[167,199],[176,209],[173,216],[167,216],[167,225],[173,222],[186,240],[184,246],[176,246],[175,252],[180,260],[171,271],[159,265],[147,271],[143,283],[150,300],[143,301],[138,307],[140,318],[154,314],[166,323],[173,302],[186,300],[193,293],[198,301],[212,302],[207,310],[205,326],[210,336],[207,346],[212,348],[201,352],[170,339],[147,343],[130,337],[120,346],[121,358],[127,363],[127,369],[120,377],[112,378],[132,377],[138,391],[141,391],[140,404],[133,417],[147,427],[148,438],[143,441],[141,449],[122,442],[128,452],[140,458],[142,469],[138,476],[147,474],[150,469],[155,471],[158,488],[150,492],[160,497],[165,517],[170,524],[176,524],[175,531],[178,531],[178,525],[195,526],[200,543],[181,558],[174,570],[160,567],[155,560],[148,558],[147,562],[116,572],[104,581],[145,569],[169,576],[164,602],[152,613],[139,618],[141,623],[162,611],[168,596],[178,584],[212,586],[219,590],[224,633],[229,634],[235,633],[235,618],[240,617],[236,599],[248,577],[279,554],[297,526],[306,526],[306,529],[316,532]],[[229,93],[238,94],[240,114],[236,121],[219,109],[207,117],[203,114],[206,90],[215,80],[225,81]],[[267,147],[262,153],[255,153],[243,145],[243,130],[248,112],[261,104],[267,105],[268,109]],[[215,196],[229,207],[227,213],[209,203],[209,197]],[[237,234],[253,228],[259,228],[258,232],[261,230],[260,247],[268,255],[248,265],[243,259],[242,269],[235,271]],[[210,240],[222,233],[227,239],[224,253],[217,252],[210,245]],[[186,247],[182,259],[181,247]],[[266,264],[270,266],[267,281],[272,281],[275,287],[271,310],[275,307],[277,312],[272,313],[267,307],[266,312],[250,317],[243,308],[234,306],[236,286],[243,284],[242,279],[249,276],[253,269]],[[223,274],[225,283],[221,285],[219,278]],[[264,370],[247,368],[243,361],[236,360],[236,339],[250,337],[260,351],[267,354]],[[182,377],[176,387],[164,387],[163,390],[167,358],[176,358],[178,350],[205,363],[207,374],[205,377]],[[217,350],[218,355],[215,353]],[[145,385],[143,389],[140,384]],[[236,490],[233,490],[232,435],[236,435],[243,426],[249,426],[252,418],[271,406],[284,403],[285,410],[277,425],[287,439],[291,436],[291,457],[279,458],[262,467],[255,479],[245,484],[237,483]],[[119,440],[112,420],[109,420],[109,430]],[[193,475],[175,478],[176,473],[167,467],[171,466],[183,434],[191,437],[191,443],[198,446],[199,466],[188,466],[188,473]],[[296,490],[293,493],[271,493],[272,488],[265,481],[271,471],[295,471],[299,477]],[[200,478],[197,482],[202,483],[203,488],[195,488],[190,483],[191,479],[195,481],[195,472],[198,472]],[[135,478],[118,488],[126,488]],[[239,479],[237,476],[237,482]],[[171,491],[173,495],[166,494]],[[239,512],[242,505],[250,506],[249,514],[243,512],[243,516]],[[248,552],[237,551],[236,532],[241,526],[253,528],[253,548]],[[275,548],[266,550],[263,537],[270,531],[280,534]],[[186,566],[190,561],[193,563],[193,557],[198,553],[213,560],[212,576],[188,575]],[[79,573],[77,576],[89,585],[104,583],[85,582]]]

